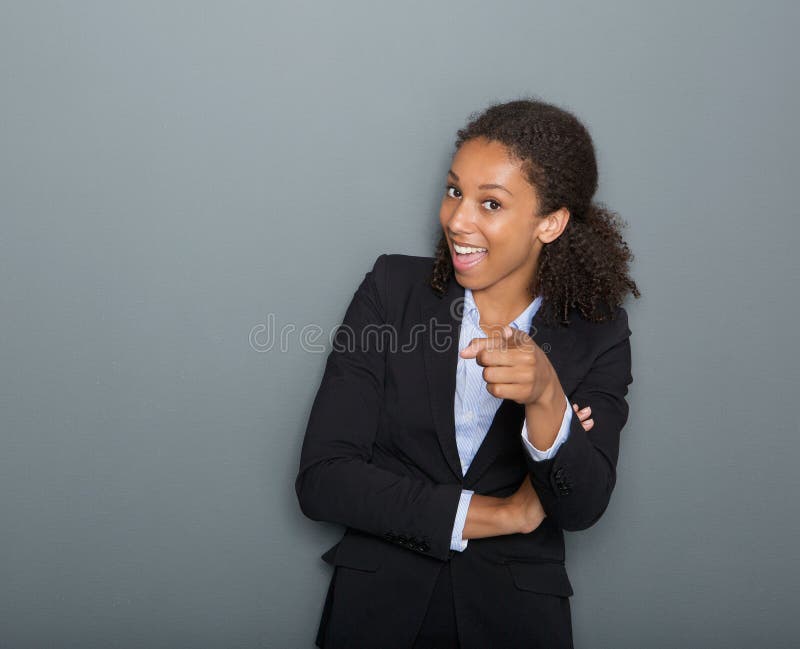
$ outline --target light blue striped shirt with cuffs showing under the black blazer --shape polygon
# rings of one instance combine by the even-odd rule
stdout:
[[[510,325],[528,333],[531,329],[533,316],[536,315],[541,303],[542,298],[539,296]],[[480,314],[472,296],[472,291],[468,288],[464,289],[464,311],[461,318],[458,350],[460,352],[464,349],[473,338],[487,337],[487,334],[480,328]],[[531,444],[528,439],[526,422],[523,420],[521,443],[534,460],[541,461],[553,457],[558,447],[564,443],[569,435],[572,406],[566,395],[564,395],[564,399],[567,402],[567,411],[564,413],[561,429],[558,431],[553,445],[546,451],[540,451]],[[483,380],[483,367],[478,365],[474,358],[461,358],[459,355],[458,367],[456,368],[455,423],[456,443],[458,445],[458,455],[461,458],[462,475],[466,475],[467,469],[469,469],[469,465],[483,443],[495,413],[502,403],[502,399],[495,397],[486,389],[486,381]],[[468,540],[462,539],[461,534],[464,531],[467,510],[473,493],[474,491],[469,489],[462,489],[461,491],[461,499],[458,503],[456,520],[453,525],[453,534],[450,539],[451,550],[461,552],[467,547]]]

